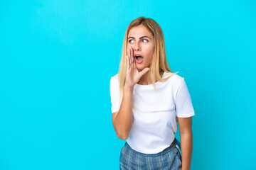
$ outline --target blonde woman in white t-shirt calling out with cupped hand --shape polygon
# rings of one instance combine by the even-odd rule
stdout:
[[[181,162],[182,170],[190,169],[195,113],[184,78],[169,68],[161,27],[151,18],[135,19],[122,49],[119,73],[110,79],[112,123],[127,140],[120,169],[181,169]]]

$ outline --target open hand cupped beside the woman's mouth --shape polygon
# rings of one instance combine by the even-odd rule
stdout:
[[[141,79],[141,77],[146,74],[146,72],[149,71],[149,67],[146,67],[142,70],[142,72],[139,72],[136,66],[136,61],[134,59],[134,50],[131,46],[127,49],[128,56],[127,58],[127,72],[126,72],[126,79],[125,79],[125,85],[130,88],[133,88],[135,84]]]

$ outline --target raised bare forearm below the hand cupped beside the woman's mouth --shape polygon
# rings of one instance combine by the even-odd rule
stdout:
[[[124,86],[122,103],[114,120],[114,129],[122,140],[127,140],[132,128],[132,94],[133,88]]]

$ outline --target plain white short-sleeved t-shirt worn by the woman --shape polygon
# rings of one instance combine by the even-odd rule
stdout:
[[[163,78],[171,72],[164,72]],[[127,143],[132,149],[144,154],[156,154],[171,145],[177,131],[177,117],[195,115],[191,96],[183,77],[174,74],[165,82],[156,82],[155,93],[152,84],[134,85],[132,101],[133,123]],[[112,113],[119,111],[118,74],[110,79]]]

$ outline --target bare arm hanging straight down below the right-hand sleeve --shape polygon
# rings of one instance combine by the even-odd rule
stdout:
[[[178,118],[178,127],[181,136],[181,167],[182,170],[190,170],[193,149],[192,117]]]

